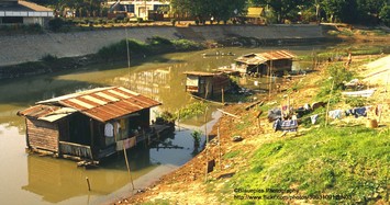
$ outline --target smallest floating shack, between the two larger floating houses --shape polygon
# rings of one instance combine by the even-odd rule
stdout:
[[[187,71],[183,73],[187,76],[186,92],[204,99],[231,88],[231,80],[223,72]]]

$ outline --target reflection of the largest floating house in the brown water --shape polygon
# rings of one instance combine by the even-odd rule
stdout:
[[[159,164],[178,168],[192,158],[193,149],[190,129],[176,132],[165,140],[151,145],[140,145],[127,150],[129,164],[133,180],[147,174]],[[204,137],[202,138],[204,143]],[[49,203],[73,204],[82,201],[80,196],[108,195],[130,183],[130,175],[123,153],[102,161],[99,169],[86,170],[77,168],[74,161],[27,156],[27,184],[22,190],[29,191]],[[89,179],[91,191],[88,190],[86,178]],[[143,184],[137,184],[138,187]]]

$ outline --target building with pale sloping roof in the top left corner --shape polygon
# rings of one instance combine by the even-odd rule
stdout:
[[[53,10],[19,0],[0,0],[1,24],[40,24],[44,26],[54,16]]]

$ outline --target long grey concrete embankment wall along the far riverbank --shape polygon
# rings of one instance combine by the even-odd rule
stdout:
[[[158,35],[168,39],[178,36],[192,41],[219,41],[231,36],[256,37],[261,41],[310,42],[324,38],[319,25],[214,25],[189,27],[131,27],[129,38],[145,41]],[[76,57],[94,54],[103,46],[126,37],[124,29],[75,33],[44,33],[0,37],[0,66],[36,61],[47,54],[57,57]]]

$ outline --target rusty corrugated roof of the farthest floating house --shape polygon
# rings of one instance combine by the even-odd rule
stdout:
[[[296,56],[287,50],[276,50],[260,54],[246,54],[239,56],[235,61],[246,65],[260,65],[269,60],[292,59]]]

